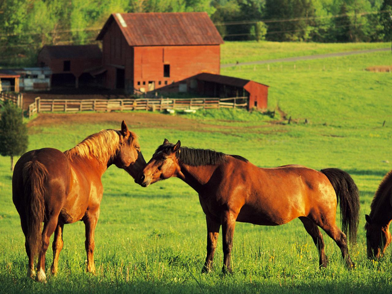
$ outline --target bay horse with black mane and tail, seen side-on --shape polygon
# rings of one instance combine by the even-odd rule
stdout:
[[[231,272],[230,255],[236,221],[257,225],[283,225],[299,218],[319,252],[319,266],[327,266],[323,235],[341,250],[345,265],[354,266],[347,249],[346,234],[336,225],[340,200],[343,231],[356,240],[358,188],[347,172],[300,165],[259,168],[238,155],[181,147],[165,139],[136,180],[143,187],[178,177],[199,194],[207,220],[207,258],[203,272],[211,269],[218,233],[222,226],[223,272]]]

